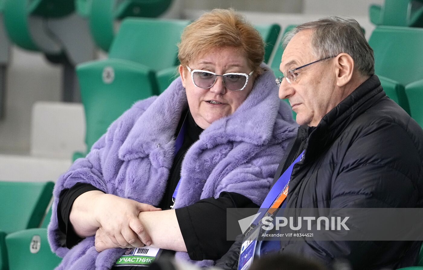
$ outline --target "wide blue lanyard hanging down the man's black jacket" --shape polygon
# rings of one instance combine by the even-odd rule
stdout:
[[[291,180],[292,170],[294,169],[294,165],[301,161],[304,155],[304,151],[299,154],[299,156],[289,165],[288,169],[286,169],[282,175],[280,175],[279,179],[277,179],[276,183],[272,186],[269,193],[267,194],[266,198],[264,199],[263,203],[261,204],[260,208],[267,208],[269,209],[270,206],[275,202],[276,198],[280,195],[280,192],[285,190],[286,186],[289,184],[289,180]],[[283,203],[281,207],[285,207],[286,203]],[[258,217],[253,222],[254,226],[257,226],[258,221],[263,218],[263,216],[267,213],[267,211],[263,211],[258,215]]]

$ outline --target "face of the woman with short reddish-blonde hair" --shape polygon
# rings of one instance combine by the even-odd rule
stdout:
[[[231,47],[211,49],[208,53],[188,64],[191,70],[207,70],[223,75],[225,73],[250,74],[251,67],[247,59],[238,50]],[[254,83],[254,73],[242,91],[233,91],[225,87],[221,76],[209,89],[195,86],[191,73],[186,66],[179,66],[182,85],[187,91],[188,106],[195,123],[206,129],[209,125],[224,116],[232,114],[250,94]]]

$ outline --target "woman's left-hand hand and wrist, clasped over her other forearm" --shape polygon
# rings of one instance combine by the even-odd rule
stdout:
[[[102,235],[107,235],[115,246],[141,247],[150,245],[151,238],[138,215],[143,211],[159,210],[152,205],[94,190],[77,197],[69,220],[80,237],[95,235],[101,227]],[[109,243],[103,237],[101,239]]]

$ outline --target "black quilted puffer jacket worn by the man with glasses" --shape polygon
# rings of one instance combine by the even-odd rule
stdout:
[[[278,178],[294,165],[287,208],[419,208],[423,206],[423,130],[371,76],[333,108],[317,127],[299,127]],[[354,269],[414,265],[420,242],[291,241],[281,253],[326,264],[346,258]],[[236,269],[239,243],[217,262]]]

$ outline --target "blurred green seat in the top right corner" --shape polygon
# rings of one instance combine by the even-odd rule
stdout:
[[[370,21],[376,25],[423,27],[422,0],[385,0],[385,5],[371,5]]]

